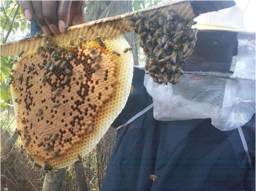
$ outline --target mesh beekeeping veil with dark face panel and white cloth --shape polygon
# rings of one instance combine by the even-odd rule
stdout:
[[[182,69],[185,74],[174,85],[158,85],[145,75],[155,119],[211,118],[212,125],[227,131],[255,113],[255,34],[201,31]]]

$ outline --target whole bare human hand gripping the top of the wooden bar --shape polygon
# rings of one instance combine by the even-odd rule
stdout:
[[[46,35],[64,33],[68,25],[86,23],[83,1],[20,1],[28,21],[35,19]]]

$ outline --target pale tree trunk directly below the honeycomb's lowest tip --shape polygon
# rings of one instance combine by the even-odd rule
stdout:
[[[42,191],[59,191],[66,168],[61,168],[58,173],[46,173]]]

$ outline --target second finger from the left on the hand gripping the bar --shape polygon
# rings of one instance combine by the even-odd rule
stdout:
[[[47,23],[44,20],[43,10],[42,10],[42,1],[32,1],[33,10],[35,13],[35,19],[41,29],[46,35],[50,35],[52,31],[47,26]]]

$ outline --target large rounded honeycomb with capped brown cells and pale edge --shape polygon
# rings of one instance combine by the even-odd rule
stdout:
[[[23,146],[48,171],[81,160],[106,133],[128,99],[133,56],[122,35],[42,40],[19,55],[11,92]]]

